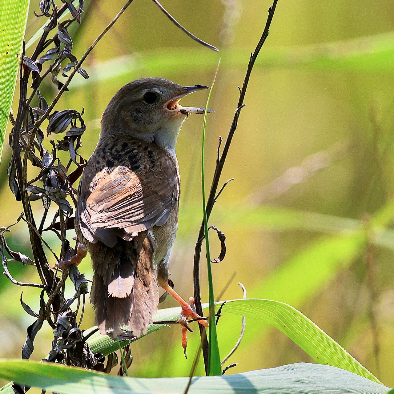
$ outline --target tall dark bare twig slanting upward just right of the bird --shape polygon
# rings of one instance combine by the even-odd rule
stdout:
[[[275,13],[275,8],[277,5],[277,0],[273,1],[273,4],[271,7],[269,7],[268,10],[268,19],[266,22],[266,26],[264,28],[264,31],[262,33],[262,36],[260,38],[260,41],[258,42],[255,51],[251,55],[251,58],[249,60],[249,64],[246,70],[245,78],[243,80],[243,85],[242,89],[240,91],[240,98],[238,99],[238,104],[237,104],[237,109],[235,110],[234,113],[234,118],[232,120],[232,124],[230,126],[229,134],[227,135],[227,139],[225,142],[225,145],[223,147],[223,152],[219,158],[219,160],[216,163],[216,168],[215,168],[215,173],[214,173],[214,178],[212,180],[212,185],[209,193],[209,197],[206,203],[206,214],[209,219],[209,216],[212,212],[212,208],[215,204],[215,197],[216,197],[216,191],[217,191],[217,186],[219,184],[220,176],[223,170],[223,166],[225,164],[227,154],[230,149],[230,144],[232,141],[232,137],[234,136],[234,132],[237,128],[238,125],[238,118],[240,116],[240,112],[243,108],[243,100],[245,99],[245,94],[246,94],[246,89],[247,85],[249,83],[249,78],[251,75],[251,72],[253,70],[253,65],[255,64],[256,58],[258,56],[258,53],[260,52],[260,49],[262,48],[264,42],[266,41],[268,34],[269,34],[269,26],[271,25],[271,21],[273,18],[273,15]],[[196,306],[196,312],[200,316],[203,313],[203,309],[201,307],[201,294],[200,294],[200,256],[201,256],[201,248],[202,248],[202,239],[204,235],[204,223],[201,223],[200,231],[199,231],[199,236],[197,238],[197,243],[195,247],[195,252],[194,252],[194,264],[193,264],[193,288],[194,288],[194,299],[195,299],[195,306]],[[206,339],[206,333],[203,331],[203,326],[199,324],[199,329],[200,329],[200,335],[202,336],[202,343],[203,343],[203,355],[204,355],[204,364],[205,364],[205,372],[208,372],[208,341]]]

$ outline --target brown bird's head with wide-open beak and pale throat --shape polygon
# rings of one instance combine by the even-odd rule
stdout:
[[[185,118],[189,113],[205,112],[204,108],[182,107],[179,100],[202,89],[209,87],[182,86],[165,78],[130,82],[119,89],[104,111],[102,134],[130,134],[175,154],[175,143]]]

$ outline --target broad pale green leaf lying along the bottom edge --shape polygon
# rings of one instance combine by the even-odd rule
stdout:
[[[0,360],[0,377],[65,394],[180,394],[188,377],[118,377],[50,362]],[[333,366],[297,363],[193,378],[190,394],[383,394],[388,387]],[[8,394],[9,389],[2,394]],[[11,394],[11,393],[10,393]]]

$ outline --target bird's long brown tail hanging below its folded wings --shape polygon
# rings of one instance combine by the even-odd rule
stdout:
[[[159,300],[153,236],[144,231],[132,241],[118,238],[112,248],[100,242],[92,246],[91,302],[100,333],[115,339],[145,334]]]

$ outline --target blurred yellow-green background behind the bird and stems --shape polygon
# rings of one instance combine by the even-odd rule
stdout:
[[[38,0],[31,1],[26,41],[45,21],[34,17],[38,4]],[[221,53],[192,41],[152,2],[135,0],[85,61],[91,78],[85,82],[76,74],[57,109],[82,111],[84,107],[87,130],[80,152],[87,158],[97,143],[101,113],[121,86],[146,76],[161,76],[183,85],[210,85],[221,57],[210,103],[216,112],[208,116],[208,184],[218,138],[227,136],[238,100],[237,85],[242,85],[270,3],[163,0],[162,4]],[[122,6],[119,0],[87,2],[82,24],[73,35],[73,53],[78,58]],[[32,50],[33,46],[27,54]],[[388,229],[375,236],[370,218],[393,195],[393,72],[393,1],[279,0],[223,171],[223,182],[235,180],[219,198],[210,220],[227,236],[226,258],[212,266],[216,294],[237,271],[223,299],[242,297],[237,285],[240,281],[248,297],[289,303],[389,387],[394,385],[394,233]],[[48,101],[56,94],[50,80],[40,90]],[[206,95],[195,93],[182,104],[204,107]],[[14,111],[17,100],[18,91]],[[201,116],[191,115],[177,145],[182,188],[170,271],[176,290],[186,299],[193,293],[193,252],[202,218],[202,122]],[[0,166],[0,225],[6,226],[14,223],[22,210],[7,184],[9,158],[6,146]],[[41,217],[40,204],[33,203],[37,217]],[[393,215],[391,212],[390,218]],[[357,229],[361,237],[354,236]],[[10,247],[31,255],[25,225],[21,222],[13,230],[7,238]],[[45,233],[45,239],[59,249],[54,235]],[[211,243],[211,254],[218,254],[219,243],[213,235]],[[203,262],[202,258],[206,302]],[[38,281],[34,267],[12,262],[9,266],[17,279]],[[91,279],[89,258],[82,262],[80,271]],[[26,327],[34,320],[20,306],[22,290],[24,301],[37,310],[39,290],[18,288],[1,278],[1,358],[20,357]],[[70,295],[72,290],[72,286],[67,290]],[[160,304],[172,306],[176,303],[170,297]],[[93,311],[87,305],[82,328],[93,324]],[[234,346],[240,328],[241,318],[225,314],[221,318],[222,358]],[[193,329],[198,331],[197,325]],[[188,360],[180,344],[180,327],[164,327],[139,340],[131,348],[134,362],[130,375],[188,375],[199,341],[196,331],[188,335]],[[46,357],[51,339],[46,325],[35,339],[33,359]],[[240,348],[228,361],[238,365],[227,373],[298,361],[311,360],[279,331],[247,319]],[[197,373],[203,373],[201,362]]]

